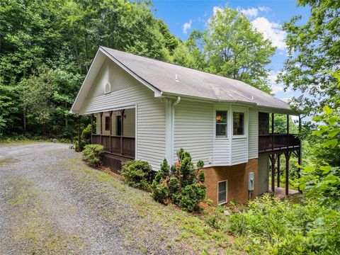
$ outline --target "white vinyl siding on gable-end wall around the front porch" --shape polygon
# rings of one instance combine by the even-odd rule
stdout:
[[[136,158],[149,162],[152,169],[158,171],[165,157],[165,103],[159,98],[154,98],[153,91],[140,84],[113,62],[104,62],[98,75],[102,77],[96,77],[81,106],[80,114],[135,108]],[[111,84],[110,94],[104,94],[107,79]],[[129,125],[129,120],[127,122],[124,124]],[[132,135],[132,131],[132,128],[128,128],[126,135]]]

